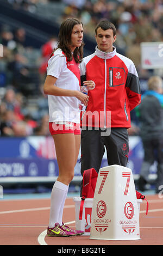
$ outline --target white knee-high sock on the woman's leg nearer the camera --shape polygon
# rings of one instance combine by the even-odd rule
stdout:
[[[51,193],[51,210],[48,224],[49,228],[54,227],[54,224],[59,222],[60,208],[62,201],[65,198],[67,187],[67,185],[58,180],[56,180],[54,183]]]

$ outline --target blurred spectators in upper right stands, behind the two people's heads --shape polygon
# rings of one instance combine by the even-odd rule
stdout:
[[[78,17],[84,33],[95,36],[100,20],[108,19],[117,28],[117,51],[134,61],[141,72],[140,42],[163,41],[162,0],[62,0],[67,3],[62,18]]]

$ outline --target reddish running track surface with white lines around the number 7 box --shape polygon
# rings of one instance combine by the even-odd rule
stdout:
[[[0,200],[0,245],[163,245],[163,198],[146,196],[140,206],[140,240],[91,240],[89,236],[47,237],[50,199]],[[67,198],[64,222],[75,228],[73,198]],[[73,247],[72,247],[73,248]]]

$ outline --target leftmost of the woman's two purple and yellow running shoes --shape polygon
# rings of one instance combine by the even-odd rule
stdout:
[[[59,223],[55,223],[54,228],[47,228],[47,235],[48,236],[74,236],[74,233],[71,231],[63,229]]]

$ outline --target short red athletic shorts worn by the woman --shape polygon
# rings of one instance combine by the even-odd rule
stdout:
[[[64,134],[64,133],[74,133],[74,135],[80,135],[80,124],[66,122],[64,124],[57,124],[54,122],[49,123],[49,131],[51,135]]]

